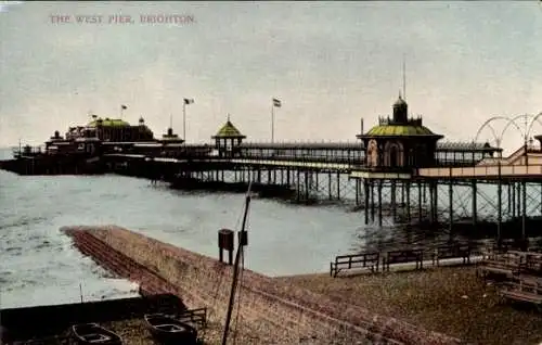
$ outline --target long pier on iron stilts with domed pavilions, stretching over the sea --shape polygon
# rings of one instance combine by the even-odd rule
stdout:
[[[425,127],[421,117],[408,116],[401,98],[392,112],[362,130],[358,142],[245,142],[246,136],[228,118],[210,143],[185,143],[171,128],[167,138],[177,138],[172,141],[78,139],[87,155],[77,164],[66,161],[70,154],[25,146],[0,168],[28,175],[116,173],[189,189],[242,191],[253,181],[262,193],[299,203],[351,201],[367,226],[428,225],[450,237],[481,231],[525,240],[540,228],[540,148],[526,142],[502,157],[502,149],[487,142],[442,142],[443,136]],[[57,132],[51,140],[66,142]],[[54,159],[56,165],[50,163]],[[70,163],[60,164],[62,159]]]

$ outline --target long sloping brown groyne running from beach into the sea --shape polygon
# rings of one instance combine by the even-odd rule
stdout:
[[[232,269],[218,260],[108,227],[67,227],[76,246],[102,266],[141,284],[147,293],[171,292],[189,307],[206,306],[209,318],[224,319]],[[462,344],[460,340],[429,332],[413,324],[376,316],[359,306],[288,285],[279,280],[243,271],[241,324],[258,336],[258,344]],[[237,309],[238,308],[238,309]]]

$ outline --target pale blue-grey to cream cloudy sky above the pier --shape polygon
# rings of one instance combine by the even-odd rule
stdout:
[[[41,144],[91,113],[119,117],[121,104],[156,137],[170,115],[182,133],[183,98],[188,142],[209,142],[228,114],[247,141],[270,141],[272,98],[275,141],[356,141],[361,118],[366,131],[391,113],[403,59],[410,113],[444,141],[542,112],[535,0],[2,3],[0,146]],[[179,23],[142,21],[159,14]],[[503,146],[524,133],[511,126]]]

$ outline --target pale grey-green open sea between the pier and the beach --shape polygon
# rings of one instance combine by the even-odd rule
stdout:
[[[1,150],[0,159],[11,156]],[[136,296],[81,255],[63,226],[117,225],[218,257],[217,231],[238,230],[243,193],[183,192],[146,179],[17,176],[0,170],[0,308]],[[363,245],[363,212],[344,204],[302,206],[255,197],[245,267],[268,276],[328,270]]]

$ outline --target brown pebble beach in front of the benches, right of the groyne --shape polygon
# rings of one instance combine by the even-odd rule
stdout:
[[[331,278],[328,273],[276,278],[400,318],[469,344],[540,344],[542,315],[501,301],[495,286],[470,267]]]

